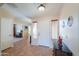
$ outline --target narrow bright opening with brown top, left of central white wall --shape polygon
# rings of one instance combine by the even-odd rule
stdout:
[[[38,45],[38,22],[32,22],[32,45]]]

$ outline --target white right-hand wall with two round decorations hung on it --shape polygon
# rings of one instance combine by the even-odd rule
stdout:
[[[67,25],[67,19],[73,16],[73,25]],[[62,23],[65,21],[65,27]],[[60,17],[60,35],[63,42],[72,51],[73,55],[79,55],[79,4],[65,4]]]

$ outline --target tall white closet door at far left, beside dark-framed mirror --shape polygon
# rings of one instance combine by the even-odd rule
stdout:
[[[13,23],[12,19],[1,19],[1,50],[13,46]]]

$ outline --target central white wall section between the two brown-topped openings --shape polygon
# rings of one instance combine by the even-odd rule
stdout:
[[[39,18],[36,19],[38,23],[38,39],[32,40],[32,43],[36,43],[37,45],[48,46],[53,48],[52,40],[51,40],[51,18]]]

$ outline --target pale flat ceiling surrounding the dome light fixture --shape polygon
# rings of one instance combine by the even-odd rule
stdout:
[[[37,7],[39,3],[15,3],[9,4],[11,7],[15,8],[18,12],[24,16],[35,19],[38,17],[47,17],[47,16],[59,16],[62,9],[62,3],[44,3],[46,6],[44,12],[38,11]]]

